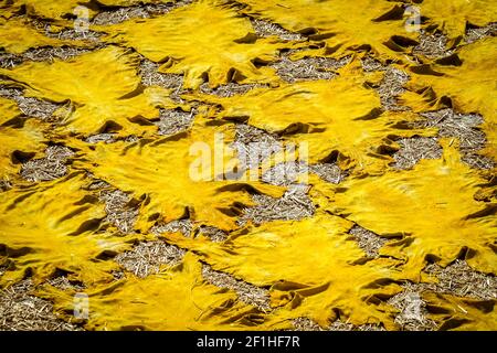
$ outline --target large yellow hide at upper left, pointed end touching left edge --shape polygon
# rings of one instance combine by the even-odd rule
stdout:
[[[157,130],[146,119],[158,118],[159,107],[177,105],[168,89],[141,90],[137,66],[136,54],[109,46],[67,62],[29,62],[0,74],[24,87],[27,96],[57,103],[70,99],[75,109],[62,118],[65,131],[91,135],[112,124],[114,129],[120,127],[121,135],[140,136]]]

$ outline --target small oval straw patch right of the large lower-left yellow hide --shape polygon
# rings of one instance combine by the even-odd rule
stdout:
[[[180,264],[183,256],[183,249],[162,240],[156,240],[139,243],[133,250],[117,255],[115,260],[135,276],[145,278],[158,274],[163,265]]]

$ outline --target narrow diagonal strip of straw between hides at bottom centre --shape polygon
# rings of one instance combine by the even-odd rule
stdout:
[[[261,311],[271,311],[269,292],[267,289],[247,284],[228,274],[213,270],[209,265],[202,266],[202,276],[211,285],[234,290],[241,301],[254,306]]]

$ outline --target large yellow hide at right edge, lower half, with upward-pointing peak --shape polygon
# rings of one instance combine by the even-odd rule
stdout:
[[[349,178],[339,188],[316,181],[313,196],[380,236],[402,236],[380,254],[403,259],[406,278],[419,278],[429,255],[446,266],[465,248],[473,268],[495,274],[495,204],[474,200],[485,180],[461,162],[454,146],[443,147],[443,159],[422,160],[410,171]]]

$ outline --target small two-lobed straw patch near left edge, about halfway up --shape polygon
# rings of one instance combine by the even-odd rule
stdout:
[[[74,152],[64,146],[50,146],[45,158],[30,160],[22,164],[21,176],[31,182],[50,181],[67,173],[67,160]]]

